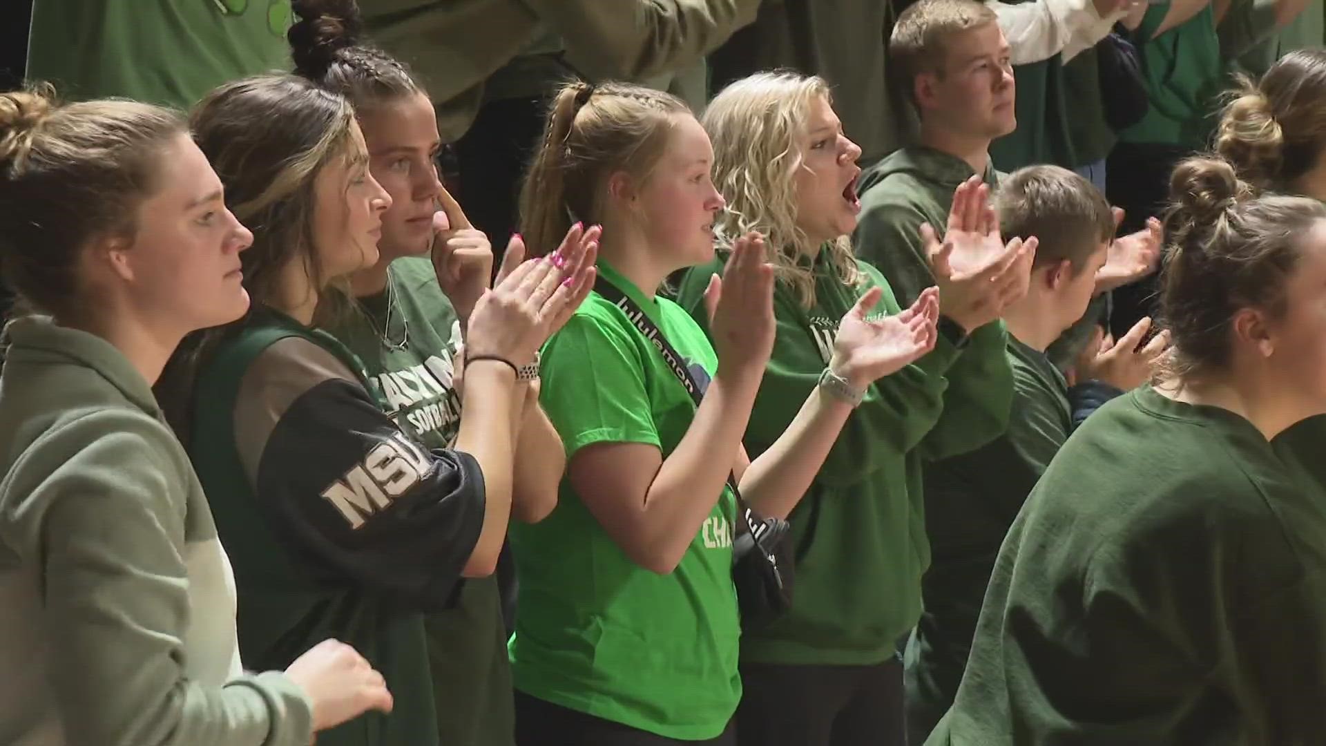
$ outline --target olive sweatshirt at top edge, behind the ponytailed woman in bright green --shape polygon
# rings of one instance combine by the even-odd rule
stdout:
[[[408,64],[438,108],[443,141],[469,129],[493,98],[489,78],[536,97],[573,70],[590,80],[642,81],[700,62],[754,20],[760,0],[374,0],[362,4],[370,36]],[[524,57],[524,60],[517,60]],[[513,70],[516,72],[516,70]]]

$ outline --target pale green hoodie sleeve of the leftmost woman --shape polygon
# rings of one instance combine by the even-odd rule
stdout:
[[[33,490],[50,686],[70,746],[304,746],[312,713],[281,673],[186,674],[186,487],[164,426],[88,417],[48,435],[64,465]]]

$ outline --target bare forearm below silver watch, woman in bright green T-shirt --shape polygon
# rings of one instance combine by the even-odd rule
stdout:
[[[851,405],[818,386],[810,392],[792,425],[741,477],[741,496],[761,515],[786,518],[810,488],[833,449]]]

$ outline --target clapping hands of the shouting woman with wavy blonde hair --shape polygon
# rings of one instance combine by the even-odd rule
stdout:
[[[1026,295],[1036,258],[1036,238],[1004,243],[988,194],[979,177],[957,187],[943,242],[930,224],[920,227],[940,311],[968,332],[994,321]]]

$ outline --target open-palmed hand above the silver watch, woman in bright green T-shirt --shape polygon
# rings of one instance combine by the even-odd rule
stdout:
[[[896,316],[870,319],[870,309],[882,295],[880,288],[871,288],[861,296],[842,317],[834,337],[829,368],[858,389],[935,349],[939,288],[926,288],[911,308]]]

